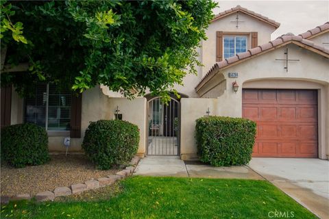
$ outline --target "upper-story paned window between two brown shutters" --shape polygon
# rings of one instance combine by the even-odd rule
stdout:
[[[224,59],[247,51],[247,36],[224,36]]]

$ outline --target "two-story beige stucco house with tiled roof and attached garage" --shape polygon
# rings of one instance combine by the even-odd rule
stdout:
[[[254,156],[329,156],[329,23],[271,40],[280,23],[236,6],[217,14],[198,49],[197,75],[176,86],[169,105],[147,94],[130,101],[105,86],[80,98],[40,85],[34,99],[1,89],[1,126],[32,122],[49,133],[49,151],[82,152],[90,121],[120,118],[140,128],[139,155],[197,159],[195,119],[244,117],[257,123]]]

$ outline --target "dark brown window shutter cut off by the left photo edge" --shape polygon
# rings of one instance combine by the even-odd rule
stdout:
[[[1,129],[10,125],[12,115],[12,86],[1,88]]]

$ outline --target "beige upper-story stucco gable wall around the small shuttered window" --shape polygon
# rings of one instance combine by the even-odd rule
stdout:
[[[258,32],[258,45],[265,44],[271,40],[271,33],[276,30],[275,27],[258,21],[256,18],[252,18],[249,15],[239,12],[239,28],[236,28],[236,13],[221,18],[217,21],[212,22],[206,34],[208,40],[202,42],[202,75],[206,75],[208,70],[216,63],[216,31],[236,31],[236,32]],[[250,44],[249,44],[250,47]],[[250,48],[248,48],[250,49]]]

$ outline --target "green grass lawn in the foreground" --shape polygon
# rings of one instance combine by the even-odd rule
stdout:
[[[101,188],[96,201],[10,203],[1,218],[269,218],[269,211],[316,218],[267,181],[130,177],[121,189],[106,198],[108,189]]]

